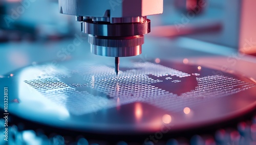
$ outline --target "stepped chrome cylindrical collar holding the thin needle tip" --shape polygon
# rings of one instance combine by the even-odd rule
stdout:
[[[141,54],[144,34],[150,33],[150,22],[146,17],[112,18],[111,21],[92,17],[83,20],[81,28],[89,34],[93,54],[128,57]]]

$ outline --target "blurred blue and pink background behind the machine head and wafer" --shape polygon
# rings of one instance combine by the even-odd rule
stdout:
[[[253,65],[255,5],[253,0],[164,0],[163,14],[148,16],[152,31],[136,57],[200,62],[218,55],[230,58],[223,63],[236,62],[233,69],[241,58]],[[75,16],[59,14],[57,0],[0,0],[0,19],[0,75],[45,61],[113,59],[90,53],[87,34],[80,31]],[[67,51],[76,38],[81,43]]]

